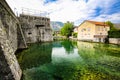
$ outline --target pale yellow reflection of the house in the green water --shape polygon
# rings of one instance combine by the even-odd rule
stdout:
[[[94,45],[88,42],[77,42],[78,52],[80,55],[85,55],[85,57],[92,57],[95,54]]]

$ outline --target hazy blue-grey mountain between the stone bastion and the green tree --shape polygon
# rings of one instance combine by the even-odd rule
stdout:
[[[51,21],[50,26],[53,31],[60,31],[60,29],[63,27],[64,23],[59,21]]]

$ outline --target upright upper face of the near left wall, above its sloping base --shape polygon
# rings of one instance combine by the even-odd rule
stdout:
[[[6,8],[4,0],[0,1],[0,20],[6,32],[6,37],[10,41],[14,51],[17,49],[17,20]]]

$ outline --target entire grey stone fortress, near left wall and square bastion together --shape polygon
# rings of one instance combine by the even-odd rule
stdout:
[[[52,41],[50,19],[28,15],[18,18],[6,1],[0,0],[0,80],[20,80],[16,50],[41,41]]]

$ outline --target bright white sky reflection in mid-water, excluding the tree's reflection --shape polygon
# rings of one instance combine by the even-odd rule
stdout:
[[[52,63],[56,64],[56,63],[72,63],[72,62],[80,62],[81,61],[81,57],[78,54],[78,49],[74,48],[73,49],[73,53],[69,54],[67,53],[67,51],[65,50],[64,47],[57,47],[57,48],[53,48],[52,49]],[[64,64],[64,65],[66,65]]]

